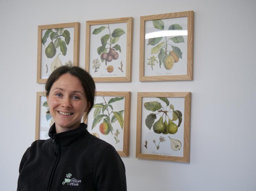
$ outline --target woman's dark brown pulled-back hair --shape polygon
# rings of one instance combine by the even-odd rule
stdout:
[[[45,84],[46,96],[49,95],[52,84],[56,82],[56,80],[58,80],[61,75],[66,73],[69,73],[77,77],[78,79],[80,79],[81,84],[84,88],[87,102],[89,103],[88,111],[83,117],[83,121],[85,121],[85,119],[87,118],[89,112],[92,110],[94,105],[96,87],[95,87],[95,83],[92,76],[88,72],[86,72],[84,69],[80,68],[79,66],[63,65],[57,68],[56,70],[54,70],[49,76],[49,78],[47,79],[47,82]]]

